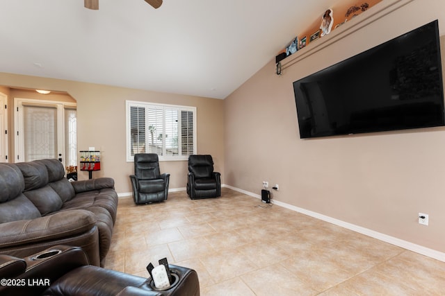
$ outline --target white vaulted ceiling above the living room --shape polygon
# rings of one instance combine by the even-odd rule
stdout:
[[[336,2],[0,0],[0,72],[226,98]]]

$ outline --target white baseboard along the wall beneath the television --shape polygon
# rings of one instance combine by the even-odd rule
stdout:
[[[234,191],[238,191],[238,192],[244,193],[246,195],[250,195],[254,198],[261,199],[261,195],[259,195],[259,194],[255,194],[250,191],[245,191],[243,189],[238,189],[236,187],[229,186],[229,185],[223,185],[223,186],[225,186],[229,189],[232,189]],[[416,245],[415,243],[410,243],[409,241],[403,241],[400,238],[395,238],[394,236],[389,236],[387,234],[375,232],[374,230],[367,229],[365,227],[347,223],[345,221],[342,221],[342,220],[339,220],[336,218],[332,218],[329,216],[325,216],[323,214],[318,214],[314,211],[309,211],[307,209],[302,209],[300,207],[296,207],[291,204],[286,204],[285,202],[280,202],[278,200],[273,200],[273,204],[276,204],[277,206],[280,206],[280,207],[284,207],[286,209],[290,209],[292,211],[297,211],[298,213],[305,214],[307,216],[311,216],[311,217],[326,221],[328,223],[332,223],[334,225],[338,225],[338,226],[346,228],[346,229],[353,230],[354,232],[358,232],[359,234],[364,234],[366,236],[371,236],[372,238],[377,238],[380,241],[385,241],[386,243],[391,243],[392,245],[396,245],[398,247],[403,247],[406,250],[410,250],[412,252],[416,252],[416,253],[428,256],[430,258],[445,262],[445,253],[443,253],[443,252],[432,250],[428,247],[423,247],[421,245]]]

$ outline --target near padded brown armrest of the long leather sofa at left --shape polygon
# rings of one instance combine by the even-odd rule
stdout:
[[[95,227],[96,217],[83,209],[0,224],[0,248],[82,234]]]

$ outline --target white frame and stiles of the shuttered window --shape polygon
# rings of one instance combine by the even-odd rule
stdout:
[[[152,135],[149,132],[149,122],[148,122],[148,109],[151,107],[152,109],[162,110],[162,128],[163,132],[162,134],[165,134],[165,113],[166,110],[177,110],[178,111],[178,119],[181,118],[181,112],[192,112],[193,114],[193,153],[196,154],[197,151],[197,108],[193,106],[184,106],[184,105],[170,105],[170,104],[162,104],[162,103],[151,103],[151,102],[144,102],[144,101],[125,101],[125,129],[126,129],[126,160],[127,162],[133,162],[134,161],[134,153],[131,151],[131,107],[143,107],[145,108],[145,118],[144,118],[144,126],[145,126],[145,147],[149,146],[149,139],[152,138]],[[178,122],[178,131],[177,131],[178,139],[181,139],[181,125]],[[162,155],[158,154],[159,161],[165,162],[165,161],[184,161],[188,159],[188,155],[182,155],[182,149],[181,149],[181,141],[179,140],[178,143],[178,154],[177,155],[166,155],[165,153],[165,139],[163,137],[161,138],[162,141]],[[147,152],[146,148],[144,148],[145,153]],[[133,154],[133,155],[132,155]]]

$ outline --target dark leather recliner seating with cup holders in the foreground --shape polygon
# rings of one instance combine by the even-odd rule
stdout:
[[[151,278],[88,265],[80,247],[57,245],[24,259],[0,255],[0,295],[199,296],[195,270],[169,265],[175,281],[156,290]]]

